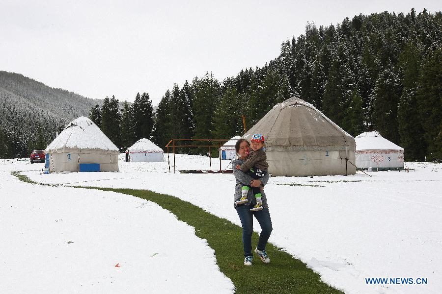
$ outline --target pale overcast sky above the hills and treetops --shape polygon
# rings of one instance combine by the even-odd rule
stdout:
[[[89,98],[156,105],[173,83],[263,66],[307,22],[441,10],[440,1],[0,0],[0,70]],[[438,5],[439,4],[439,5]]]

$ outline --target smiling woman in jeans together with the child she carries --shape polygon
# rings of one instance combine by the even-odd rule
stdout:
[[[235,175],[235,209],[243,226],[244,265],[250,266],[253,258],[251,236],[253,216],[261,226],[261,233],[255,253],[264,263],[270,263],[266,245],[272,233],[272,220],[264,193],[264,186],[269,180],[268,164],[263,150],[264,137],[253,135],[251,146],[246,139],[239,139],[235,144],[239,158],[232,161]],[[250,147],[252,150],[250,150]]]

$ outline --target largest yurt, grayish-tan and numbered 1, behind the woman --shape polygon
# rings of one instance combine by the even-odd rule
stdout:
[[[265,138],[273,176],[355,174],[355,138],[312,104],[290,98],[276,104],[243,138]]]

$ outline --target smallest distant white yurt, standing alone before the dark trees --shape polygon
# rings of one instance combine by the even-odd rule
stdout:
[[[129,158],[132,162],[163,162],[163,149],[149,139],[139,139],[129,147]]]

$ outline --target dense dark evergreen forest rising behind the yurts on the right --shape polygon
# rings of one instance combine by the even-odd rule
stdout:
[[[406,15],[359,14],[336,26],[309,23],[261,68],[222,82],[206,73],[175,83],[155,114],[151,103],[141,102],[143,95],[150,101],[146,93],[133,105],[126,102],[119,117],[114,101],[120,130],[107,130],[104,103],[102,129],[112,141],[122,140],[119,147],[142,137],[162,148],[171,138],[228,139],[244,133],[242,115],[249,128],[276,103],[296,96],[353,136],[378,130],[405,148],[406,160],[441,161],[441,93],[442,13],[412,8]]]

